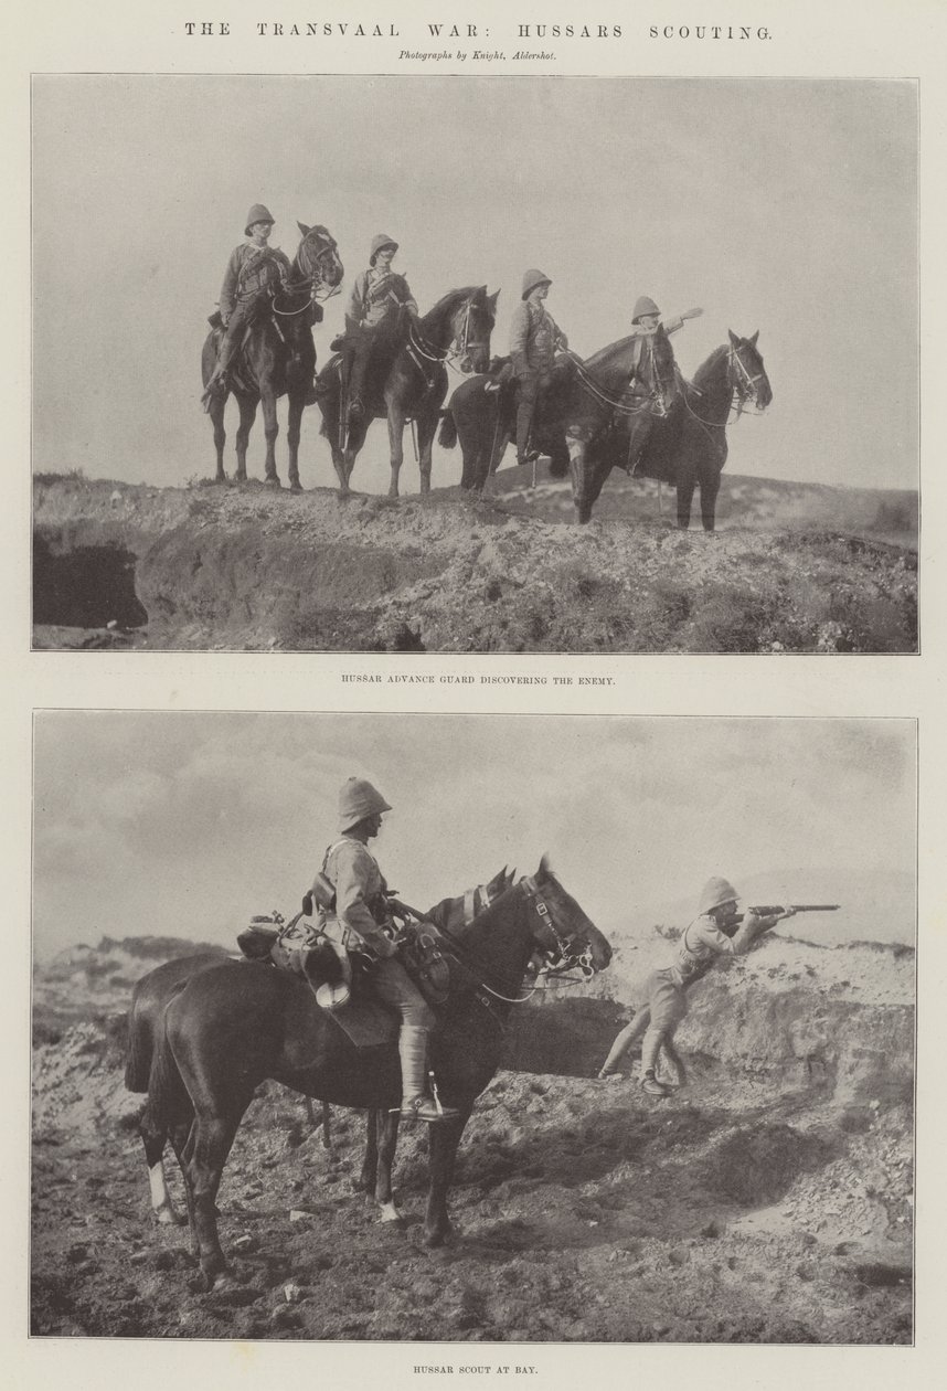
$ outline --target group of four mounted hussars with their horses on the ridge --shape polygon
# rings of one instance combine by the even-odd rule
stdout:
[[[403,431],[410,421],[420,490],[431,487],[431,451],[460,444],[462,488],[481,494],[510,440],[520,463],[549,456],[553,477],[570,474],[578,522],[588,522],[613,467],[676,487],[677,522],[690,524],[694,490],[701,517],[713,530],[726,427],[736,409],[763,410],[772,401],[756,349],[758,334],[715,349],[687,381],[674,360],[672,334],[702,310],[669,317],[652,299],[634,305],[631,331],[588,359],[569,349],[545,299],[552,281],[540,270],[523,277],[510,327],[508,357],[491,357],[498,294],[487,287],[449,291],[421,314],[405,275],[394,268],[398,243],[378,234],[369,266],[356,275],[345,332],[316,373],[313,325],[323,300],[341,291],[343,266],[324,227],[299,223],[302,241],[291,262],[271,248],[274,221],[263,204],[248,213],[245,235],[227,264],[220,310],[204,344],[204,409],[214,426],[217,481],[224,472],[224,408],[234,395],[236,481],[246,480],[246,448],[257,405],[266,433],[266,481],[278,484],[277,399],[286,395],[289,484],[300,491],[299,437],[306,405],[318,405],[342,494],[350,491],[355,462],[374,419],[387,419],[391,448],[389,495],[398,497]],[[471,374],[449,409],[446,366]],[[534,472],[535,477],[535,472]]]

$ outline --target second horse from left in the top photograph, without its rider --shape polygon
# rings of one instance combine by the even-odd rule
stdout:
[[[348,497],[355,460],[373,420],[387,417],[391,447],[388,497],[398,497],[403,462],[403,434],[409,417],[417,431],[421,492],[431,491],[431,447],[448,389],[444,363],[456,359],[460,371],[483,371],[489,362],[489,335],[496,319],[496,298],[487,287],[452,289],[421,319],[412,320],[407,335],[394,357],[378,353],[369,370],[366,417],[348,424],[342,420],[341,356],[318,374],[318,406],[323,434],[332,451],[339,492]]]

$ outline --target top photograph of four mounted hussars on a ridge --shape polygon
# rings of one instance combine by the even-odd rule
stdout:
[[[32,645],[918,652],[918,85],[32,81]]]

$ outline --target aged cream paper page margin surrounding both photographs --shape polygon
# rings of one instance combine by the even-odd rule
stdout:
[[[257,24],[362,21],[366,26],[395,24],[392,40],[277,39],[256,35]],[[420,64],[402,63],[402,47],[430,47],[424,25],[477,24],[489,28],[489,43],[509,47],[516,25],[574,24],[619,25],[622,39],[601,42],[545,40],[555,61],[535,64],[530,72],[694,77],[864,77],[915,78],[921,83],[921,380],[922,380],[922,651],[921,658],[509,658],[491,670],[548,673],[594,670],[613,677],[606,691],[578,687],[555,690],[435,689],[419,701],[406,689],[345,686],[343,672],[369,670],[380,659],[360,655],[268,658],[261,655],[125,655],[29,652],[29,75],[31,72],[412,72]],[[186,24],[227,24],[227,36],[188,36]],[[763,26],[770,38],[751,40],[649,39],[651,25],[697,24]],[[636,1377],[658,1377],[686,1384],[690,1377],[709,1385],[790,1385],[800,1378],[825,1385],[840,1378],[864,1385],[932,1385],[947,1340],[941,1324],[940,1249],[944,1231],[941,1170],[943,1123],[943,1006],[944,932],[947,915],[941,887],[944,818],[941,785],[947,772],[943,733],[943,522],[944,502],[944,391],[940,381],[944,356],[944,217],[943,164],[947,100],[943,90],[943,58],[947,49],[947,11],[941,0],[868,0],[825,4],[773,4],[759,0],[722,0],[712,7],[694,0],[659,0],[644,6],[604,0],[594,11],[540,0],[527,11],[512,14],[503,4],[467,0],[420,6],[417,0],[385,0],[356,6],[339,0],[331,10],[311,14],[289,4],[260,7],[222,0],[213,11],[195,13],[172,6],[114,0],[97,7],[39,3],[29,14],[11,11],[4,22],[3,58],[4,189],[7,210],[7,259],[4,277],[6,317],[3,344],[6,401],[4,438],[7,506],[3,515],[3,716],[10,772],[4,807],[4,886],[8,907],[11,963],[8,1007],[3,1011],[3,1040],[8,1059],[10,1118],[6,1129],[3,1209],[3,1276],[0,1277],[0,1327],[4,1370],[11,1385],[68,1384],[92,1387],[103,1381],[133,1380],[143,1387],[164,1385],[168,1378],[202,1378],[211,1385],[257,1387],[274,1378],[318,1378],[332,1388],[360,1387],[370,1376],[392,1387],[419,1385],[419,1362],[491,1363],[488,1348],[460,1345],[421,1349],[419,1345],[192,1345],[64,1341],[26,1338],[29,1219],[28,1174],[28,979],[29,979],[29,868],[31,868],[31,714],[42,707],[111,708],[241,708],[241,709],[426,709],[451,712],[502,711],[597,714],[770,714],[770,715],[903,715],[918,718],[921,737],[919,797],[919,1021],[918,1074],[918,1284],[916,1346],[876,1348],[756,1348],[756,1346],[549,1346],[509,1349],[506,1362],[537,1369],[534,1385],[572,1387],[594,1378],[602,1387],[626,1384]],[[501,35],[503,36],[501,43]],[[448,65],[439,65],[444,75]],[[452,71],[460,72],[460,65]],[[469,72],[470,67],[463,67]],[[489,72],[519,72],[492,64]],[[264,115],[261,115],[264,118]],[[697,138],[695,132],[695,138]],[[199,132],[196,132],[199,138]],[[160,139],[160,132],[154,132]],[[147,159],[147,150],[142,150]],[[734,132],[730,159],[765,160],[751,135]],[[726,179],[726,161],[720,177]],[[64,218],[96,216],[93,207],[63,209]],[[699,210],[694,210],[699,217]],[[185,245],[200,228],[170,228]],[[81,274],[81,266],[75,267]],[[872,287],[864,287],[871,298]],[[819,307],[800,306],[818,327]],[[879,332],[884,324],[879,323]],[[912,353],[915,344],[893,351]],[[877,389],[879,384],[866,389]],[[883,389],[883,388],[882,388]],[[394,661],[385,658],[385,670]],[[412,669],[437,673],[477,672],[477,658],[413,657]],[[791,769],[787,769],[791,776]],[[779,789],[773,789],[779,796]],[[142,885],[143,897],[154,885]],[[427,1378],[431,1380],[431,1378]],[[441,1377],[435,1380],[483,1385],[489,1377]]]

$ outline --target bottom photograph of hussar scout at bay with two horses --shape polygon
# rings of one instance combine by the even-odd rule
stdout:
[[[33,812],[33,1335],[912,1342],[914,721],[39,711]]]

